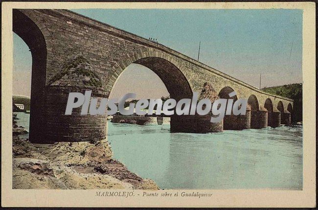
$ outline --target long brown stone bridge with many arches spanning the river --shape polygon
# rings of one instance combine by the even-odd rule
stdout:
[[[171,132],[209,133],[223,129],[278,127],[290,123],[293,100],[265,93],[169,47],[68,10],[14,9],[13,31],[32,54],[30,140],[103,140],[107,116],[65,116],[69,92],[92,90],[108,97],[119,75],[132,63],[153,70],[170,97],[248,98],[246,116],[171,116]],[[142,78],[140,78],[142,80]]]

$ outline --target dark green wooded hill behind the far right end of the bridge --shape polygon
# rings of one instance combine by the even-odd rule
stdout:
[[[302,121],[302,84],[294,83],[288,85],[262,88],[267,93],[273,93],[294,99],[294,115],[292,120]]]

